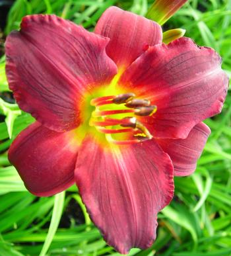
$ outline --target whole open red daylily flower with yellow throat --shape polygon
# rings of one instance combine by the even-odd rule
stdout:
[[[120,253],[147,248],[174,175],[195,171],[228,87],[221,59],[190,38],[162,44],[156,22],[117,7],[94,32],[55,15],[22,19],[6,42],[16,102],[36,122],[9,160],[37,196],[76,182],[90,218]]]

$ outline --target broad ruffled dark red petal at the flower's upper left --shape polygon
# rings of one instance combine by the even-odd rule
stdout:
[[[57,132],[77,127],[84,93],[116,74],[108,41],[55,15],[24,17],[6,42],[7,78],[20,108]]]

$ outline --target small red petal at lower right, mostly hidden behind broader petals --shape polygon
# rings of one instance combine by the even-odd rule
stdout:
[[[186,139],[158,139],[156,142],[168,153],[174,164],[174,175],[187,176],[193,173],[197,167],[197,160],[201,156],[203,148],[211,130],[203,122],[193,127]]]

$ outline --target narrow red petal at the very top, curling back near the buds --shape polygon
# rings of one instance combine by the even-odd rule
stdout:
[[[162,42],[159,24],[117,7],[110,7],[103,13],[95,32],[110,38],[106,52],[123,68],[138,58],[147,46]]]

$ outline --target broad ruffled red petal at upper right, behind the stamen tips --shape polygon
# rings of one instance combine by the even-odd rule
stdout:
[[[228,89],[220,56],[190,38],[150,47],[121,77],[127,87],[157,106],[147,118],[156,138],[187,138],[205,118],[218,114]]]

